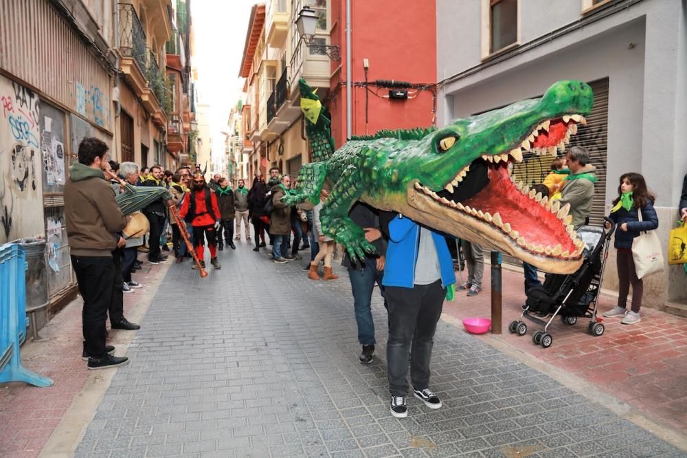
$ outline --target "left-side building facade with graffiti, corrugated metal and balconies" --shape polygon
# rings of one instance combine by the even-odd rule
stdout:
[[[34,327],[76,294],[63,189],[82,138],[120,162],[174,165],[172,30],[172,0],[0,0],[0,243],[46,241],[29,291],[45,298],[27,301]]]

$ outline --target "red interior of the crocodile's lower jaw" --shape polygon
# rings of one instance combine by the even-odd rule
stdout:
[[[488,174],[489,184],[477,195],[462,201],[462,204],[491,215],[499,212],[504,223],[510,223],[511,230],[517,230],[526,243],[536,240],[544,247],[552,248],[560,243],[564,252],[576,250],[561,220],[517,190],[508,175],[506,164],[488,164]]]

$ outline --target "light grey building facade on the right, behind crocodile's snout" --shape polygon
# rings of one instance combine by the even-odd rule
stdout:
[[[437,8],[438,124],[541,96],[557,80],[586,81],[594,107],[571,145],[592,153],[600,178],[592,223],[609,212],[620,175],[635,171],[657,195],[667,241],[687,172],[687,132],[677,121],[687,109],[684,2],[438,0]],[[541,182],[551,159],[525,157],[514,175]],[[617,289],[614,268],[604,286]],[[684,307],[682,266],[666,265],[644,291],[650,307]]]

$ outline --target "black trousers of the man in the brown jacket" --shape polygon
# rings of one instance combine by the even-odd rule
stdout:
[[[93,358],[104,358],[105,321],[112,301],[115,265],[112,257],[71,255],[79,293],[84,300],[81,325],[86,341],[86,353]]]

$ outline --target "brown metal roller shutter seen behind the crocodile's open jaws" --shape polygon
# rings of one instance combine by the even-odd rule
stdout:
[[[592,204],[592,216],[589,223],[596,226],[603,222],[606,201],[606,171],[607,171],[607,144],[608,144],[608,78],[589,83],[594,91],[594,106],[587,116],[587,125],[578,127],[575,135],[567,148],[582,146],[589,151],[589,162],[596,166],[598,182],[594,186],[594,203]],[[553,162],[551,156],[537,156],[532,153],[524,155],[523,162],[513,168],[513,177],[516,181],[537,184],[550,171]]]

